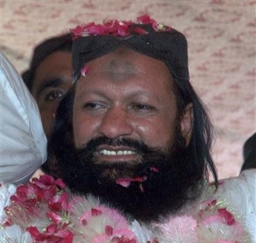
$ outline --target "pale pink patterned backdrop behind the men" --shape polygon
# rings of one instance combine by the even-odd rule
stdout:
[[[256,131],[255,1],[1,1],[1,50],[18,71],[33,46],[79,23],[149,14],[188,39],[191,82],[216,128],[220,178],[238,175],[244,141]],[[198,148],[200,149],[200,148]]]

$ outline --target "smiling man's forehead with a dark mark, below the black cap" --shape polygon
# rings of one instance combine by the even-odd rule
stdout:
[[[97,77],[112,82],[136,79],[139,84],[146,82],[145,79],[150,79],[148,82],[151,82],[151,85],[158,85],[163,80],[167,85],[172,83],[171,73],[163,61],[140,54],[130,48],[119,48],[89,61],[87,65],[89,70],[86,78],[81,76],[78,84],[82,80],[87,80],[89,83],[91,79],[97,79]]]

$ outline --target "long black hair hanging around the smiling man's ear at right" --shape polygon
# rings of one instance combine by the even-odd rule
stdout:
[[[210,154],[214,129],[206,107],[188,80],[174,78],[174,88],[181,117],[185,114],[188,104],[192,103],[193,105],[191,140],[186,149],[193,158],[194,166],[206,179],[209,179],[209,171],[212,173],[217,188],[217,171]]]

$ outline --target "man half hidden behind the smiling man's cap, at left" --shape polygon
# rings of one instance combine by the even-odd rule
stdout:
[[[47,139],[58,103],[72,86],[71,34],[51,37],[34,48],[32,61],[22,78],[40,110]]]

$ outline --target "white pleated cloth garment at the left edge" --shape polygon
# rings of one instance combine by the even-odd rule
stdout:
[[[0,51],[0,182],[25,183],[46,161],[47,140],[36,102]]]

